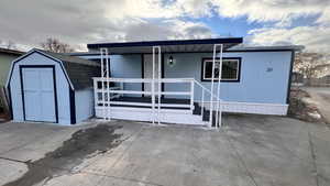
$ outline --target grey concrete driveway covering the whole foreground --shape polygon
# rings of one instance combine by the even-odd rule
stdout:
[[[220,132],[124,121],[0,124],[0,185],[330,185],[326,125],[248,114],[224,123]]]

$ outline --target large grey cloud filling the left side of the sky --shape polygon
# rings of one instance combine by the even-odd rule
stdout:
[[[156,0],[1,0],[0,39],[29,48],[52,36],[86,50],[95,42],[210,35],[208,26],[180,20],[183,10],[172,7]]]

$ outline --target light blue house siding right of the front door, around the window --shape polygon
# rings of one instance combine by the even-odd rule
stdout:
[[[212,57],[212,54],[172,54],[176,61],[169,67],[165,57],[165,77],[191,77],[201,81],[201,61]],[[242,57],[241,80],[239,83],[221,83],[221,99],[239,102],[286,103],[287,83],[292,52],[246,52],[224,53],[223,57]],[[273,68],[267,72],[267,68]],[[210,83],[202,81],[210,89]],[[183,91],[186,87],[166,85],[166,91]],[[195,99],[201,98],[200,88],[195,90]]]

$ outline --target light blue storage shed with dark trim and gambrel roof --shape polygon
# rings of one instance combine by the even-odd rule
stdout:
[[[75,124],[94,116],[92,77],[100,65],[32,50],[12,62],[7,88],[13,121]]]

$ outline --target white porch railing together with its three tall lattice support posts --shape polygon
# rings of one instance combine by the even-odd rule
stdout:
[[[215,88],[215,75],[216,75],[216,57],[217,57],[217,47],[220,47],[220,63],[219,63],[219,69],[218,69],[218,92],[217,96],[215,96],[213,88]],[[111,119],[111,105],[122,105],[122,106],[146,106],[152,108],[153,117],[152,122],[155,122],[155,109],[157,109],[157,121],[160,120],[160,114],[162,107],[187,107],[189,110],[194,111],[194,94],[195,94],[195,84],[197,84],[201,88],[201,117],[204,118],[204,110],[205,110],[205,95],[210,95],[210,111],[209,111],[209,127],[212,127],[213,122],[213,110],[216,110],[216,128],[221,127],[221,107],[220,107],[220,80],[221,80],[221,72],[222,72],[222,51],[223,51],[223,44],[215,44],[213,45],[213,61],[212,61],[212,74],[211,74],[211,90],[204,87],[200,83],[196,81],[193,78],[161,78],[162,73],[162,51],[161,46],[153,46],[152,53],[153,53],[153,64],[152,64],[152,78],[151,79],[142,79],[142,78],[110,78],[110,61],[108,56],[108,48],[100,48],[101,53],[101,77],[94,78],[94,85],[95,85],[95,103],[96,107],[102,106],[103,113],[106,120]],[[156,54],[157,53],[157,54]],[[156,61],[156,55],[157,61]],[[106,59],[105,59],[106,57]],[[158,63],[158,74],[157,78],[155,78],[155,63]],[[111,87],[111,83],[117,83],[120,86],[118,87]],[[123,84],[125,83],[140,83],[140,84],[151,84],[151,90],[148,91],[139,91],[139,90],[125,90]],[[189,84],[190,88],[189,91],[162,91],[161,85],[172,83],[172,84]],[[101,84],[99,87],[98,85]],[[155,91],[155,85],[157,85],[157,91]],[[113,98],[119,98],[120,96],[123,96],[125,94],[129,95],[147,95],[151,96],[151,103],[148,102],[123,102],[123,101],[112,101]],[[161,97],[164,95],[176,95],[176,96],[188,96],[190,99],[189,105],[176,105],[176,103],[162,103]],[[156,103],[156,96],[157,96],[157,103]],[[216,100],[216,101],[215,101]],[[213,109],[213,102],[217,103],[216,109]],[[106,107],[106,108],[105,108]],[[193,114],[193,113],[191,113]]]

